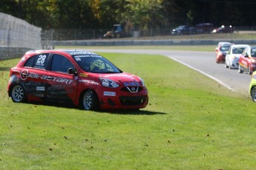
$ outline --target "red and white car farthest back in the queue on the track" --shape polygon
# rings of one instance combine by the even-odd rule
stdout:
[[[229,48],[232,46],[230,42],[219,42],[215,48],[215,58],[216,63],[225,63],[226,52],[229,51]]]

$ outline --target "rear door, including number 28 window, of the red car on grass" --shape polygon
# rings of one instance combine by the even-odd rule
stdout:
[[[21,70],[21,83],[27,92],[27,99],[40,101],[45,98],[45,81],[47,78],[45,68],[49,53],[34,55],[24,64]]]

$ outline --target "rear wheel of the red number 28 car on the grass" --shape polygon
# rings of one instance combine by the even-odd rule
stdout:
[[[16,84],[10,89],[10,98],[13,102],[21,103],[27,100],[26,92],[23,86]]]

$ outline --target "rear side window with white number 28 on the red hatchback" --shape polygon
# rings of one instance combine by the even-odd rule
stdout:
[[[34,67],[38,69],[45,69],[48,56],[49,54],[47,53],[34,55],[33,57],[27,60],[26,64],[24,64],[24,67]]]

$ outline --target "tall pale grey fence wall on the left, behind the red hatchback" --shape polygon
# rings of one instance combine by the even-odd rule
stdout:
[[[0,60],[16,58],[27,50],[41,49],[40,27],[27,21],[0,13]]]

